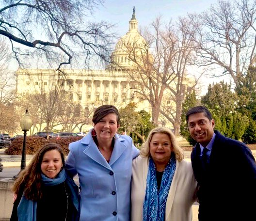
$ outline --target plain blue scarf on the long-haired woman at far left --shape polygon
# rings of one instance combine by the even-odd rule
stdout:
[[[41,174],[42,183],[46,186],[55,186],[58,184],[63,183],[66,178],[68,177],[65,170],[62,170],[54,179],[48,178],[46,175]],[[69,186],[69,182],[67,182]],[[70,187],[70,186],[69,186]],[[74,194],[75,190],[70,188],[72,195]],[[18,221],[36,221],[36,201],[28,200],[23,195],[21,197],[20,203],[17,208],[18,212]]]

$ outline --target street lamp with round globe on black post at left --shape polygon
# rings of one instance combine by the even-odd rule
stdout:
[[[23,147],[22,147],[22,155],[21,155],[21,164],[20,164],[20,171],[17,175],[14,176],[16,179],[21,171],[23,171],[26,167],[26,136],[27,131],[30,130],[32,126],[32,120],[30,118],[28,110],[20,120],[20,127],[24,131],[24,138],[23,138]]]

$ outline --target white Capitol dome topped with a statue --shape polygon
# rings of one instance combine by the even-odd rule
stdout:
[[[135,7],[133,7],[133,14],[129,21],[129,31],[117,42],[111,55],[112,64],[107,69],[127,70],[134,68],[134,63],[130,61],[129,54],[132,50],[135,50],[139,56],[146,46],[146,41],[137,28],[138,21],[135,17]]]

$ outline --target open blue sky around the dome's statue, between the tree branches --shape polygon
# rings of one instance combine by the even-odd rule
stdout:
[[[217,0],[105,0],[103,6],[94,11],[96,20],[104,20],[116,24],[114,32],[122,36],[128,32],[135,6],[136,19],[139,27],[144,27],[162,15],[165,21],[176,20],[178,16],[186,16],[187,13],[202,12],[207,10]]]

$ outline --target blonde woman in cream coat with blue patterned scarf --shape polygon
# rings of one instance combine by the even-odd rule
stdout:
[[[152,129],[132,162],[132,221],[192,221],[196,187],[172,131]]]

